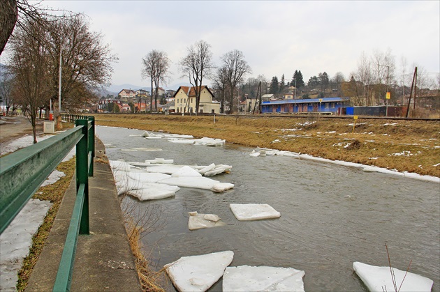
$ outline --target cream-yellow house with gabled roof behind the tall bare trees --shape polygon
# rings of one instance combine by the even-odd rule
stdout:
[[[193,86],[179,86],[175,95],[175,112],[178,113],[193,113],[196,111],[196,91]],[[214,94],[205,85],[201,87],[200,102],[198,111],[200,114],[210,113],[219,114],[220,103],[212,99]]]

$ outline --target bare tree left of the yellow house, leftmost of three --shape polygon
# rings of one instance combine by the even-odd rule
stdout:
[[[157,51],[153,49],[151,52],[142,58],[142,78],[149,77],[156,88],[154,93],[154,111],[157,112],[157,98],[159,95],[159,82],[164,82],[166,84],[168,77],[168,69],[170,68],[170,59],[166,52]],[[150,111],[153,112],[153,92],[150,95]]]

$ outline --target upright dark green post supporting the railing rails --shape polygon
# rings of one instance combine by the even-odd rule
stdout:
[[[82,215],[80,223],[80,234],[89,234],[89,151],[88,151],[88,123],[87,120],[76,120],[75,125],[82,125],[82,134],[84,135],[76,145],[76,191],[80,184],[85,185],[84,205],[82,206]]]

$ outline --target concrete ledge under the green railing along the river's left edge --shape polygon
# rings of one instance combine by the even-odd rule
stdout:
[[[69,185],[26,291],[52,291],[75,201],[75,177]],[[140,291],[115,181],[96,139],[94,177],[89,178],[90,234],[80,236],[71,291]]]

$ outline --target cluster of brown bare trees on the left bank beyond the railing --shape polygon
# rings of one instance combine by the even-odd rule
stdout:
[[[63,110],[75,112],[94,102],[94,92],[110,82],[111,65],[117,61],[101,33],[90,31],[87,18],[80,14],[27,17],[15,27],[8,44],[3,102],[22,108],[34,129],[34,143],[38,110],[50,112],[59,93]]]

